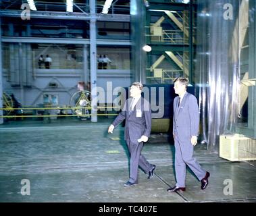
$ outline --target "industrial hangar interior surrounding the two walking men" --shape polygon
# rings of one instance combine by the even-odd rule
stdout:
[[[255,20],[255,0],[0,1],[0,202],[256,202]],[[201,190],[187,168],[170,193],[182,76],[211,176]],[[150,95],[156,169],[126,188],[124,124],[107,128],[133,82]]]

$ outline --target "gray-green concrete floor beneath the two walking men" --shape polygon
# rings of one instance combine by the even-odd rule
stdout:
[[[124,128],[113,134],[113,119],[98,123],[78,119],[9,121],[0,126],[0,202],[256,202],[255,161],[231,163],[195,147],[195,157],[211,173],[209,186],[189,169],[186,191],[168,193],[175,184],[174,146],[166,134],[152,134],[143,155],[157,167],[152,180],[139,171],[138,185],[128,180]],[[30,195],[22,195],[22,180]],[[225,195],[226,181],[232,183]],[[231,186],[228,182],[229,186]],[[26,190],[28,192],[28,190]]]

